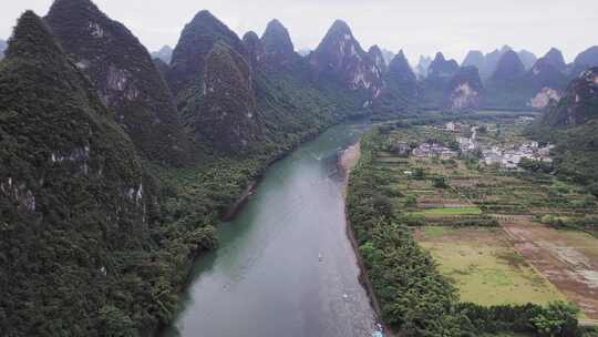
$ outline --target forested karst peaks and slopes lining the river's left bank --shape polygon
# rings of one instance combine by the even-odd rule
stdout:
[[[251,181],[370,112],[374,91],[320,73],[278,21],[241,41],[202,11],[171,64],[87,0],[44,21],[27,12],[0,63],[1,335],[152,334]]]

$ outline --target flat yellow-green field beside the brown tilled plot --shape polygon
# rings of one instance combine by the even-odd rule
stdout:
[[[517,254],[501,228],[426,227],[416,238],[458,288],[463,302],[502,305],[566,299]]]

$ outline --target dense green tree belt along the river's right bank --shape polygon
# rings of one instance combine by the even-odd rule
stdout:
[[[578,310],[568,304],[483,307],[458,303],[455,288],[436,270],[430,254],[398,216],[401,210],[384,193],[393,184],[392,175],[373,163],[383,146],[380,130],[362,139],[362,156],[351,173],[347,207],[384,323],[403,336],[582,334],[577,328]]]

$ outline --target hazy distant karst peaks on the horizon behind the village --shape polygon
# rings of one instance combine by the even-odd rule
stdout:
[[[544,109],[551,101],[558,101],[571,78],[591,65],[598,65],[598,47],[581,52],[570,64],[566,64],[556,48],[537,59],[532,52],[515,52],[508,45],[486,54],[470,51],[462,62],[462,67],[476,68],[482,80],[483,96],[476,99],[482,105],[477,106],[496,109]],[[415,73],[424,86],[425,104],[462,106],[446,105],[446,92],[451,91],[448,80],[456,71],[455,62],[445,60],[442,53],[434,60],[420,58]]]

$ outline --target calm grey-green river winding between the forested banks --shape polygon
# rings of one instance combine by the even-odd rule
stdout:
[[[202,256],[166,336],[371,336],[375,318],[347,237],[341,151],[367,124],[331,127],[265,174],[220,248]]]

